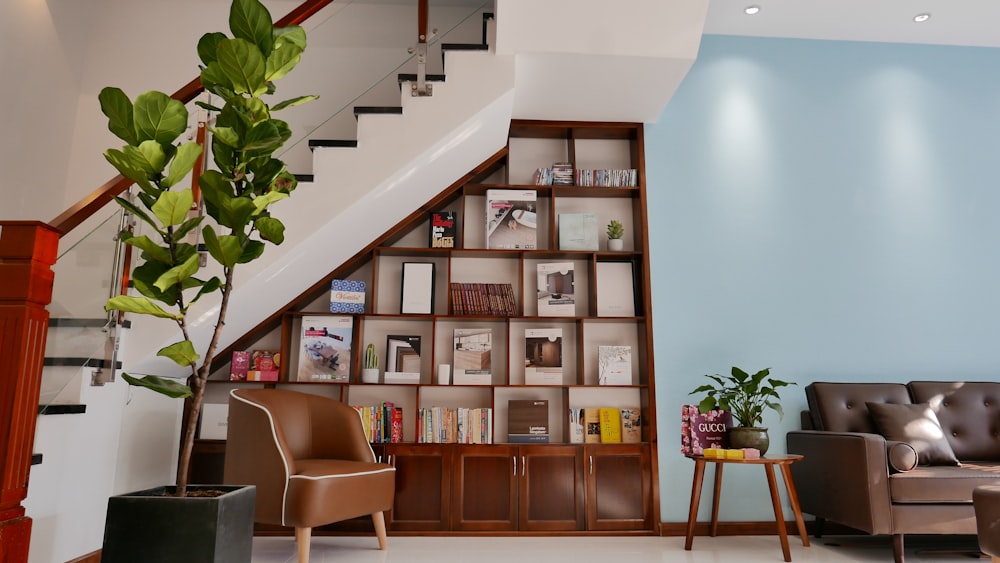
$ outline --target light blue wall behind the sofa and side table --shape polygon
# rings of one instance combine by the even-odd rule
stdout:
[[[663,521],[706,373],[798,382],[774,452],[811,381],[1000,378],[998,162],[1000,50],[704,38],[646,130]],[[760,473],[720,519],[773,519]]]

